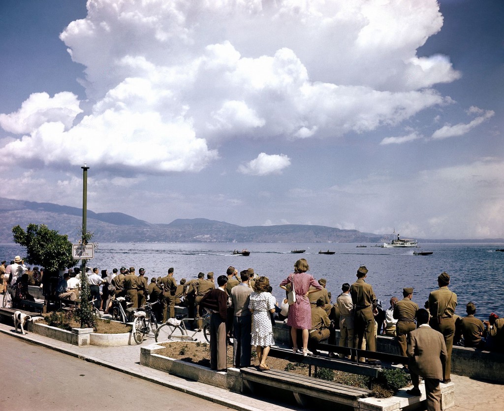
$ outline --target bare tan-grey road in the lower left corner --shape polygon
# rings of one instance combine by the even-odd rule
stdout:
[[[0,334],[0,410],[230,409]]]

